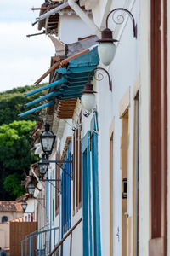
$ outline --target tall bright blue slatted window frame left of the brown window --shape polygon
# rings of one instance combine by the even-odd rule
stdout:
[[[71,142],[65,155],[65,161],[71,161]],[[61,177],[61,206],[62,206],[62,237],[71,228],[71,163],[64,163],[62,166],[65,172]]]

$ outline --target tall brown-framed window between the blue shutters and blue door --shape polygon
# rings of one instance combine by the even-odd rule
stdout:
[[[73,135],[73,215],[82,207],[82,117]]]

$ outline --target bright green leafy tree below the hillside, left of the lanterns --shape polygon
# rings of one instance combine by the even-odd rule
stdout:
[[[25,179],[31,164],[37,161],[29,148],[32,140],[29,136],[35,125],[36,122],[29,120],[0,126],[0,200],[7,199],[5,191],[10,195],[20,194],[22,190],[19,180],[21,182],[21,177]],[[12,183],[12,177],[16,181],[16,187]]]

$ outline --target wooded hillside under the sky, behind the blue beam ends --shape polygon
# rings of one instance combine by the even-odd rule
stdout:
[[[0,93],[0,125],[10,124],[14,120],[20,120],[20,118],[18,117],[19,113],[26,112],[31,108],[35,108],[41,105],[42,102],[35,106],[31,106],[31,108],[27,108],[25,106],[26,103],[31,102],[40,96],[44,96],[47,93],[46,90],[29,97],[26,97],[25,94],[29,90],[37,89],[38,87],[42,87],[43,85],[45,84],[31,86],[26,85],[25,87],[14,88],[13,90],[7,90]],[[30,113],[23,119],[36,120],[37,116],[38,113]]]

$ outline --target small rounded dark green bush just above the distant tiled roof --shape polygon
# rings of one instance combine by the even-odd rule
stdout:
[[[8,191],[10,195],[15,195],[16,197],[20,197],[25,194],[26,189],[20,186],[20,180],[21,177],[16,172],[8,175],[3,183],[5,190]]]

